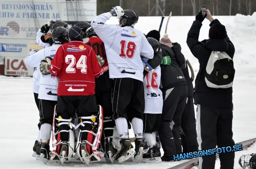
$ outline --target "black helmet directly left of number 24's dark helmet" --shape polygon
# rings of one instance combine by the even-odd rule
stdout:
[[[64,27],[56,27],[52,31],[52,39],[54,44],[65,44],[68,43],[68,30]]]

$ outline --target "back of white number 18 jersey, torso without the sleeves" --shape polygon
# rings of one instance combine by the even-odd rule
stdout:
[[[140,58],[142,36],[142,32],[132,27],[118,26],[110,48],[106,49],[110,78],[143,79],[143,63]],[[113,54],[119,57],[112,57]]]

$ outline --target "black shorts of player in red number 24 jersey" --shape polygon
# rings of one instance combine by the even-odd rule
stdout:
[[[58,95],[56,112],[62,119],[70,119],[77,113],[78,117],[98,114],[95,95]]]

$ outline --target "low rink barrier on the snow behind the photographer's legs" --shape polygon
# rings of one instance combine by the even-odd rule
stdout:
[[[253,138],[253,139],[249,139],[249,140],[245,140],[245,141],[242,141],[242,142],[239,142],[239,143],[236,143],[236,144],[242,144],[242,149],[243,150],[248,150],[248,148],[256,142],[256,138]],[[216,159],[219,158],[219,155],[216,154]],[[194,158],[194,159],[190,159],[184,163],[181,163],[181,164],[178,164],[178,165],[175,165],[173,167],[170,167],[168,169],[191,169],[192,167],[197,167],[198,165],[198,157],[197,158]]]

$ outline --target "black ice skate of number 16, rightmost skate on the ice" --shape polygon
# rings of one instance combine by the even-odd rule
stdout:
[[[142,156],[143,163],[161,163],[161,152],[160,148],[154,146],[148,150],[146,154]]]

